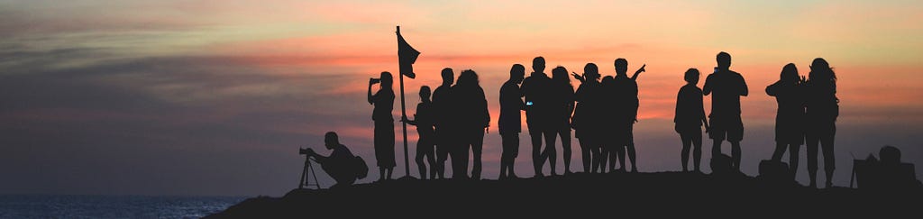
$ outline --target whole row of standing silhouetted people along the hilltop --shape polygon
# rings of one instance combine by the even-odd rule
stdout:
[[[719,53],[716,61],[717,67],[707,76],[701,89],[697,87],[701,73],[696,68],[689,68],[684,74],[687,84],[677,93],[674,129],[682,142],[683,171],[689,171],[691,151],[693,171],[701,172],[704,127],[713,140],[713,157],[725,156],[721,145],[727,140],[731,144],[728,163],[731,169],[739,172],[740,141],[744,133],[740,97],[747,96],[749,89],[743,76],[730,70],[730,55]],[[513,65],[509,70],[509,80],[499,91],[497,125],[503,149],[499,178],[517,177],[513,164],[519,156],[521,111],[525,111],[533,146],[535,176],[545,176],[545,162],[550,174],[557,176],[557,138],[561,139],[564,174],[571,173],[571,129],[582,149],[584,172],[637,172],[633,127],[638,122],[637,79],[645,69],[642,66],[629,77],[628,60],[624,58],[617,58],[614,68],[615,76],[602,77],[593,63],[586,64],[582,74],[569,74],[567,68],[558,66],[551,70],[549,77],[545,73],[545,58],[538,56],[533,59],[533,71],[525,77],[525,67]],[[434,91],[431,92],[427,86],[420,89],[422,101],[417,105],[414,119],[402,117],[402,122],[415,126],[419,133],[415,161],[420,176],[424,179],[445,178],[445,163],[451,160],[452,178],[479,179],[484,137],[490,122],[485,91],[473,70],[463,70],[457,81],[449,67],[442,69],[441,76],[442,84]],[[581,81],[576,90],[571,85],[570,76]],[[373,94],[372,85],[378,82],[380,89]],[[395,95],[392,84],[391,74],[382,72],[379,79],[370,80],[368,87],[368,103],[375,105],[372,119],[375,121],[375,154],[380,179],[390,179],[395,165],[394,120],[391,116]],[[798,148],[807,142],[810,185],[816,187],[817,151],[818,145],[821,145],[826,185],[830,187],[834,168],[834,123],[838,116],[836,76],[832,68],[825,60],[817,58],[811,64],[809,78],[806,79],[798,76],[794,64],[788,64],[783,68],[779,81],[768,86],[766,93],[775,96],[779,104],[773,160],[781,160],[787,149],[794,176]],[[707,118],[702,101],[706,95],[712,96],[712,112]],[[470,170],[469,154],[473,154]]]

